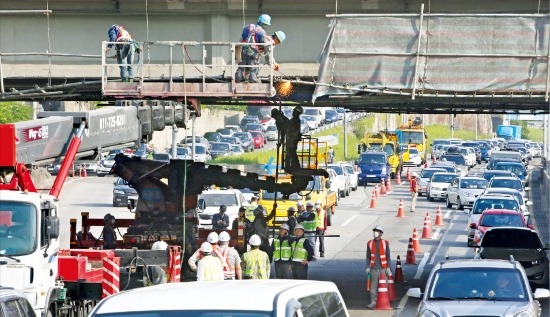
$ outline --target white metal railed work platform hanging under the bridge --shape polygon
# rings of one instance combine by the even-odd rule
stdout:
[[[112,44],[110,50],[106,50]],[[185,97],[272,97],[274,84],[274,46],[271,43],[156,41],[135,43],[132,78],[122,81],[117,60],[117,45],[133,42],[102,43],[102,93],[119,98]],[[238,47],[254,45],[259,49],[258,65],[236,63]],[[271,52],[271,53],[265,53]],[[266,58],[267,57],[267,58]],[[264,60],[265,59],[265,60]],[[266,62],[266,64],[264,64]],[[242,64],[242,63],[241,63]],[[239,67],[246,72],[258,68],[261,81],[235,82]]]

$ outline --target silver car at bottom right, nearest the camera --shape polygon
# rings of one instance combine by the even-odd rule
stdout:
[[[499,228],[500,229],[500,228]],[[407,290],[420,298],[416,316],[540,316],[538,299],[547,289],[531,292],[527,274],[513,258],[508,260],[446,260],[432,268],[425,291]]]

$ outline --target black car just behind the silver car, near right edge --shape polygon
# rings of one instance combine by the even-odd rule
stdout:
[[[521,263],[529,283],[548,288],[547,247],[532,228],[498,227],[487,229],[479,243],[481,259],[509,259],[511,256]]]

